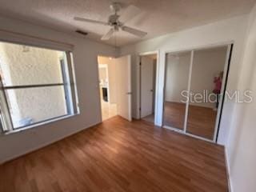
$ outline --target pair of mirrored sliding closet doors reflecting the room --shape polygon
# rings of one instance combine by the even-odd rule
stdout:
[[[232,48],[166,53],[163,127],[216,142]]]

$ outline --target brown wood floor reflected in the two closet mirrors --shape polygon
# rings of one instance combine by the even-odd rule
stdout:
[[[165,102],[164,125],[183,130],[186,104]],[[190,106],[187,118],[187,132],[208,138],[214,138],[214,127],[217,111],[202,107]]]

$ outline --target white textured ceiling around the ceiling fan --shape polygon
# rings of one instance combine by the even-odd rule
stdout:
[[[88,32],[88,38],[100,41],[109,26],[75,22],[74,16],[106,21],[110,15],[111,0],[0,0],[0,13],[48,26],[55,30],[74,33]],[[118,0],[122,6],[138,6],[141,14],[126,23],[127,26],[144,30],[145,38],[154,38],[208,22],[247,14],[256,0]],[[75,34],[76,35],[76,34]],[[125,32],[118,32],[118,46],[141,41]],[[106,41],[114,44],[114,38]]]

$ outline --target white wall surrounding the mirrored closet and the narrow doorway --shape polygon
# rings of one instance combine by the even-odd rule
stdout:
[[[122,55],[132,54],[132,72],[136,74],[133,78],[133,107],[138,107],[138,54],[148,51],[159,50],[159,66],[157,70],[157,123],[162,124],[162,99],[166,51],[190,50],[199,46],[218,45],[223,42],[234,42],[234,51],[230,65],[230,76],[227,83],[227,90],[235,90],[238,83],[238,72],[241,69],[241,60],[246,35],[248,15],[230,18],[205,26],[194,27],[190,30],[179,31],[174,34],[167,34],[162,37],[153,38],[135,45],[122,47]],[[226,144],[230,133],[231,116],[234,110],[234,101],[226,102],[223,107],[222,122],[219,130],[218,143]],[[138,110],[133,110],[134,117],[138,117]]]

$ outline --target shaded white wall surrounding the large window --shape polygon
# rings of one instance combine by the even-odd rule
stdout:
[[[34,129],[1,135],[0,163],[101,122],[97,57],[98,55],[115,56],[114,47],[93,42],[86,38],[74,38],[69,34],[9,18],[0,18],[1,30],[10,30],[74,45],[74,71],[80,114]],[[3,37],[1,36],[1,38]]]

